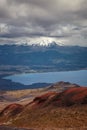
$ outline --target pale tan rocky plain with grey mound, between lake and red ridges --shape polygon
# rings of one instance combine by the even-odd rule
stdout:
[[[61,92],[71,87],[79,87],[79,85],[61,81],[49,85],[45,88],[15,90],[15,91],[0,91],[0,104],[1,104],[0,110],[11,103],[18,103],[18,104],[20,103],[25,105],[40,94],[44,94],[49,91]]]

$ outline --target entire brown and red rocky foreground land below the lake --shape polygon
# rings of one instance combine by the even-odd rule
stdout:
[[[28,97],[30,94],[32,98]],[[59,82],[45,89],[10,91],[2,95],[10,95],[16,100],[2,107],[1,125],[31,130],[87,128],[87,87]]]

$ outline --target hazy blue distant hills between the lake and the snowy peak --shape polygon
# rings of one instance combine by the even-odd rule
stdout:
[[[87,47],[0,45],[0,65],[28,66],[32,70],[56,71],[87,68]]]

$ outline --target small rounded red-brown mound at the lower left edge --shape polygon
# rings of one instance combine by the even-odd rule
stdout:
[[[5,107],[0,115],[4,116],[15,116],[16,114],[20,113],[23,110],[23,106],[20,104],[10,104],[7,107]]]

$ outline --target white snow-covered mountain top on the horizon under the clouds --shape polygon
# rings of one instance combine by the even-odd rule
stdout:
[[[64,46],[65,43],[64,41],[61,41],[59,39],[55,38],[48,38],[48,37],[40,37],[40,38],[23,38],[21,40],[16,39],[15,42],[7,42],[5,44],[7,45],[33,45],[33,46],[50,46],[50,45],[59,45],[59,46]],[[4,45],[3,43],[0,45]]]

